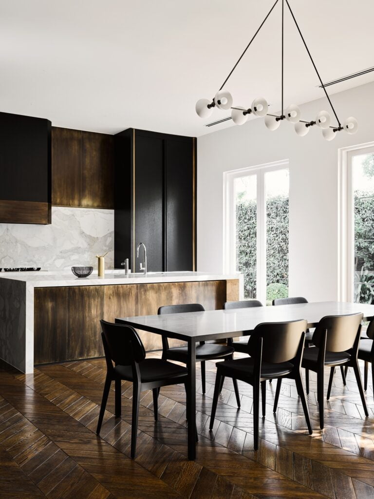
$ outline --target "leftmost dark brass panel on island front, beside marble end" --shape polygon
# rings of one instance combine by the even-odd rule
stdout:
[[[34,363],[62,362],[67,356],[67,287],[34,289]]]

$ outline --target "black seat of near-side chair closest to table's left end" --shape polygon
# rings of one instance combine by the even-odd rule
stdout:
[[[216,365],[217,373],[222,376],[242,379],[253,375],[254,361],[251,357],[226,360],[225,362],[218,362]],[[279,364],[262,362],[261,378],[276,378],[278,376],[285,376],[286,374],[289,374],[293,368],[294,366],[291,362],[281,362]]]

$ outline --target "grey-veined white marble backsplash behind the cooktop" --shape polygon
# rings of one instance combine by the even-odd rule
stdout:
[[[114,266],[114,211],[52,207],[51,225],[0,224],[0,267]]]

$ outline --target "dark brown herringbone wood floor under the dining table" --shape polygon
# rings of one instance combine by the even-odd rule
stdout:
[[[158,354],[156,354],[158,355]],[[374,498],[374,400],[365,418],[353,373],[344,387],[335,375],[318,429],[312,373],[309,436],[295,385],[285,381],[277,414],[268,384],[260,448],[253,451],[252,389],[239,382],[237,410],[226,380],[212,433],[208,431],[215,365],[207,363],[207,392],[197,383],[197,458],[188,462],[183,387],[163,388],[160,419],[152,394],[141,401],[137,458],[129,457],[132,385],[122,385],[122,417],[114,392],[101,437],[95,434],[105,378],[103,359],[40,366],[33,375],[0,366],[0,498]],[[199,375],[199,371],[197,371]],[[326,389],[328,373],[326,373]]]

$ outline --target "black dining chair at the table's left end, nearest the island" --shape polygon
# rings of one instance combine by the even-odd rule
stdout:
[[[116,417],[121,416],[121,381],[131,381],[133,383],[131,457],[134,459],[138,433],[140,392],[144,390],[153,391],[153,409],[155,421],[157,421],[158,389],[161,386],[184,383],[187,394],[188,372],[185,367],[173,362],[162,359],[146,359],[146,351],[142,340],[133,327],[124,324],[113,324],[105,320],[101,320],[100,323],[107,375],[96,433],[99,435],[101,430],[112,381],[115,383]]]

